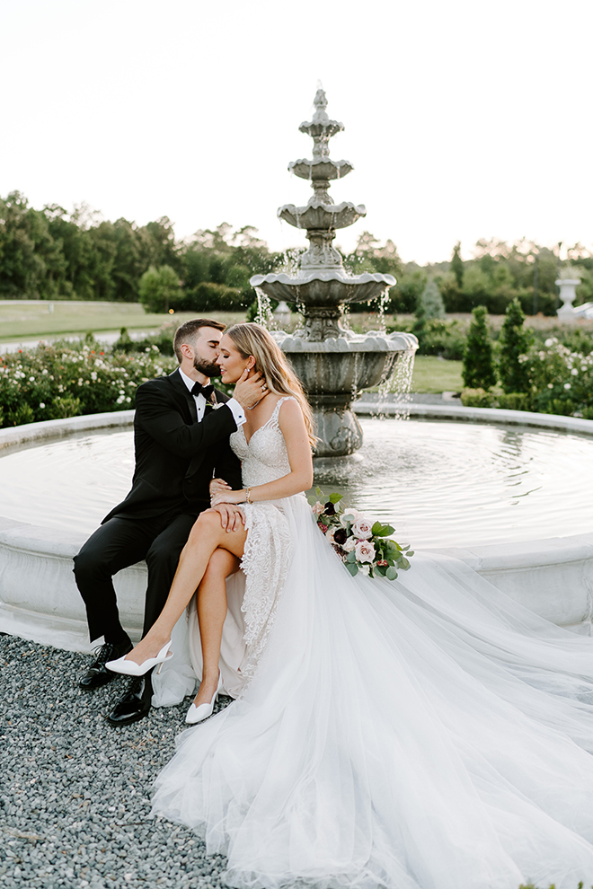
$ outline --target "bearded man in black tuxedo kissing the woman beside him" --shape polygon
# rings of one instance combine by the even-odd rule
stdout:
[[[181,324],[173,340],[177,370],[137,389],[132,488],[75,556],[91,642],[104,639],[79,682],[85,690],[115,679],[106,661],[132,647],[119,622],[113,575],[146,559],[144,636],[163,609],[192,525],[210,506],[210,480],[216,475],[241,488],[241,466],[228,438],[245,422],[244,409],[261,400],[265,383],[260,374],[242,378],[231,399],[213,389],[209,378],[219,372],[222,330],[224,324],[208,318]],[[108,721],[125,726],[145,717],[151,697],[150,673],[132,679]]]

